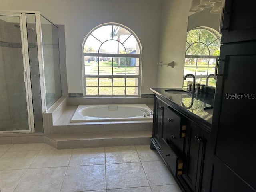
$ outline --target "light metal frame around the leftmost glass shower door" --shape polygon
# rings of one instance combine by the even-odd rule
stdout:
[[[33,12],[35,13],[35,12]],[[30,80],[30,66],[29,66],[29,52],[28,52],[28,36],[26,27],[26,12],[18,11],[0,11],[0,16],[18,16],[20,18],[20,35],[22,45],[22,58],[23,58],[23,69],[24,69],[24,84],[26,91],[26,102],[28,112],[28,130],[10,130],[0,131],[0,133],[12,133],[12,132],[35,132],[34,127],[34,112],[33,112],[33,101],[32,101],[32,88]]]

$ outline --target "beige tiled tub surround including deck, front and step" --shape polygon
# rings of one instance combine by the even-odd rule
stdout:
[[[153,110],[153,104],[147,106]],[[58,149],[150,144],[152,120],[70,122],[77,107],[64,108],[55,122],[44,121],[49,125],[44,132],[45,143]]]

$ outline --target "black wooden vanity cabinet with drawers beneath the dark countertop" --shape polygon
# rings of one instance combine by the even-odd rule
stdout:
[[[160,96],[154,102],[151,148],[158,150],[184,191],[200,192],[209,133]]]

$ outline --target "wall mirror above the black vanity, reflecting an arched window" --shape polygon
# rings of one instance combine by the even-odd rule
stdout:
[[[214,7],[210,7],[199,12],[191,12],[188,17],[184,76],[193,74],[196,86],[203,89],[204,86],[216,86],[213,74],[220,53],[221,35],[218,30],[221,13],[212,13],[213,9]],[[183,86],[192,84],[191,81],[191,76],[186,78]],[[203,89],[201,90],[204,91]]]

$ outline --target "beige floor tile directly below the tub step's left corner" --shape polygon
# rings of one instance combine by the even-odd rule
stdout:
[[[30,168],[68,166],[72,149],[41,150]]]

